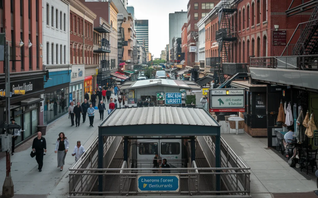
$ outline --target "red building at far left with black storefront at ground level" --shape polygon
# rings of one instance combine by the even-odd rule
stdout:
[[[22,4],[20,4],[22,3]],[[0,124],[15,119],[22,127],[15,145],[34,137],[43,125],[44,76],[42,66],[42,0],[1,1],[0,31],[6,33],[10,61],[0,61]],[[10,90],[5,90],[4,71],[10,69]],[[25,91],[21,94],[19,91]],[[5,93],[4,93],[5,92]],[[10,118],[5,114],[5,95],[10,94]],[[22,92],[23,93],[23,92]],[[9,119],[9,120],[8,120]],[[3,132],[3,129],[0,129]]]

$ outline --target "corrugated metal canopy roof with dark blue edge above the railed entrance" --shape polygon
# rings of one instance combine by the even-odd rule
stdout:
[[[220,135],[220,125],[203,108],[149,106],[115,109],[98,126],[102,136]]]

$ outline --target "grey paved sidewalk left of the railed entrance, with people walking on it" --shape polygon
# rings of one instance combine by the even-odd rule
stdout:
[[[114,98],[114,95],[112,95]],[[108,104],[106,102],[106,109]],[[119,106],[119,105],[118,105]],[[104,112],[104,119],[108,116],[107,110]],[[14,198],[66,198],[68,196],[68,169],[75,162],[73,153],[78,140],[84,148],[93,142],[98,135],[98,125],[102,122],[98,110],[95,110],[94,127],[89,127],[89,119],[86,117],[85,123],[81,117],[79,127],[72,126],[68,115],[65,115],[54,123],[48,125],[45,137],[47,152],[43,158],[42,172],[38,172],[38,164],[31,158],[31,145],[33,138],[19,146],[11,156],[11,177],[14,185]],[[63,171],[57,168],[57,153],[54,153],[55,143],[60,132],[64,132],[70,142],[70,147],[65,158]],[[6,159],[0,160],[0,183],[3,184],[6,176]],[[2,188],[0,188],[0,196]]]

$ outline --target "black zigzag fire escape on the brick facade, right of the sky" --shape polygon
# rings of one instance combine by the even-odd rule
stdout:
[[[223,0],[222,5],[219,8],[219,29],[216,31],[216,40],[218,41],[218,53],[221,57],[222,63],[232,62],[231,60],[231,42],[236,41],[236,30],[234,23],[230,23],[230,16],[237,9],[229,4],[228,0]],[[224,73],[221,64],[216,64],[214,69],[215,85],[221,85],[224,83]]]

